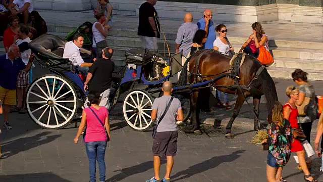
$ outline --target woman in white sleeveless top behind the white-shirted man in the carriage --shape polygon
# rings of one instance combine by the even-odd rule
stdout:
[[[107,35],[107,27],[103,27],[102,24],[100,23],[102,20],[105,20],[105,14],[104,12],[100,11],[97,14],[94,15],[94,17],[97,19],[96,22],[94,22],[92,26],[92,33],[93,33],[93,44],[92,48],[94,49],[94,52],[97,54],[96,57],[101,57],[99,55],[99,50],[97,50],[96,43],[100,41],[105,41],[105,37]]]

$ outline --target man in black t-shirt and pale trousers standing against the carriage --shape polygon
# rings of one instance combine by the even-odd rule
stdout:
[[[84,90],[88,88],[89,92],[94,91],[101,93],[100,106],[109,109],[109,96],[112,73],[115,70],[115,63],[111,61],[113,49],[104,48],[102,58],[97,59],[89,69],[86,80],[84,82]],[[89,81],[91,81],[88,86]],[[84,107],[87,107],[88,99],[86,98]]]

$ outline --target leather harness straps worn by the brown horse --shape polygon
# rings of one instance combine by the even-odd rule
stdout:
[[[215,50],[209,50],[209,51],[215,51]],[[228,89],[235,89],[236,90],[236,94],[239,90],[239,88],[243,88],[243,89],[247,89],[249,90],[250,89],[250,85],[252,84],[252,82],[256,79],[258,79],[258,76],[260,75],[260,73],[264,70],[264,66],[261,65],[261,67],[258,68],[257,72],[255,73],[255,76],[252,78],[252,80],[250,81],[250,83],[245,86],[245,85],[240,85],[239,84],[239,74],[240,74],[240,66],[243,64],[244,62],[244,59],[245,59],[245,53],[236,53],[232,59],[230,60],[230,69],[222,72],[222,73],[219,73],[219,74],[215,74],[215,75],[201,75],[200,72],[199,72],[199,62],[200,62],[200,59],[201,57],[206,53],[207,51],[204,51],[202,52],[200,55],[198,55],[197,57],[197,61],[196,61],[196,64],[193,66],[192,70],[194,70],[196,68],[196,73],[192,73],[192,72],[189,72],[189,79],[192,75],[195,75],[195,80],[194,80],[194,83],[197,83],[197,79],[198,77],[201,79],[200,81],[203,81],[202,78],[206,78],[206,77],[210,77],[210,76],[216,76],[216,75],[220,75],[220,74],[223,74],[223,73],[226,73],[228,71],[231,71],[229,74],[228,74],[228,77],[231,77],[232,79],[234,79],[234,85],[215,85],[213,83],[213,86],[215,87],[226,87]]]

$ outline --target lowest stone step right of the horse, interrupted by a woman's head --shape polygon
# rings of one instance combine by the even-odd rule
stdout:
[[[281,67],[266,67],[268,73],[272,77],[276,78],[292,78],[292,73],[295,71],[294,68],[281,68]],[[323,71],[321,70],[309,70],[309,69],[302,69],[303,71],[307,72],[307,78],[309,80],[323,80]]]

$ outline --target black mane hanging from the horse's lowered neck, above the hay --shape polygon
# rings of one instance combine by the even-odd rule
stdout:
[[[275,102],[278,101],[275,82],[266,69],[264,69],[260,73],[260,75],[262,78],[261,90],[267,101],[266,102],[267,112],[268,112],[268,115],[271,115]]]

